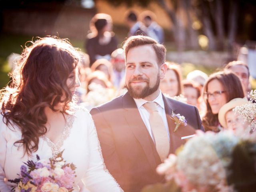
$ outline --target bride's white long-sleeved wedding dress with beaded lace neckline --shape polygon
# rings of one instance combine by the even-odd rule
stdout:
[[[73,115],[67,115],[67,122],[61,140],[55,145],[46,137],[39,139],[38,150],[23,156],[23,148],[14,146],[20,140],[18,127],[12,130],[4,124],[0,116],[0,192],[9,192],[12,183],[9,179],[18,178],[20,166],[27,160],[48,160],[54,153],[64,150],[62,157],[66,163],[76,166],[74,192],[119,192],[120,186],[110,175],[103,163],[100,143],[90,113],[78,108]]]

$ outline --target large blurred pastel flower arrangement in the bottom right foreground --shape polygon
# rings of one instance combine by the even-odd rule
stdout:
[[[256,186],[256,133],[202,132],[170,154],[156,170],[166,183],[142,192],[253,192]],[[250,182],[248,182],[250,181]]]

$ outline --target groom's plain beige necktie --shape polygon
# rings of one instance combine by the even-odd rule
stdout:
[[[156,150],[163,162],[169,154],[170,144],[164,121],[158,113],[156,105],[156,102],[146,102],[144,107],[150,114],[149,123],[154,135]]]

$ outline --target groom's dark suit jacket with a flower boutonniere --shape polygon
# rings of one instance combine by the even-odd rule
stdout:
[[[196,107],[162,96],[170,131],[170,153],[174,153],[185,142],[182,136],[204,128]],[[187,126],[180,126],[175,133],[175,124],[170,118],[172,110],[188,121]],[[154,142],[128,93],[93,108],[90,113],[106,167],[125,192],[139,192],[145,185],[164,181],[163,176],[156,173],[161,160]]]

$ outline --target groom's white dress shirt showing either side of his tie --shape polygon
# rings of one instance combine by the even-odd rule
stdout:
[[[137,105],[137,108],[138,108],[138,110],[140,112],[140,116],[141,116],[144,124],[146,125],[146,128],[148,129],[148,132],[149,132],[152,140],[154,141],[154,136],[153,136],[152,129],[151,129],[150,123],[149,123],[149,112],[143,106],[148,101],[144,100],[144,99],[134,99],[134,101],[135,101],[135,103]],[[150,102],[156,102],[158,104],[157,105],[158,113],[163,118],[164,126],[166,128],[166,132],[168,134],[168,138],[169,138],[169,141],[170,141],[170,132],[169,132],[168,122],[167,122],[166,114],[165,114],[165,110],[164,110],[164,100],[163,100],[163,97],[162,97],[162,92],[160,91],[160,93],[157,96],[157,98],[154,99],[153,101],[150,101]]]

